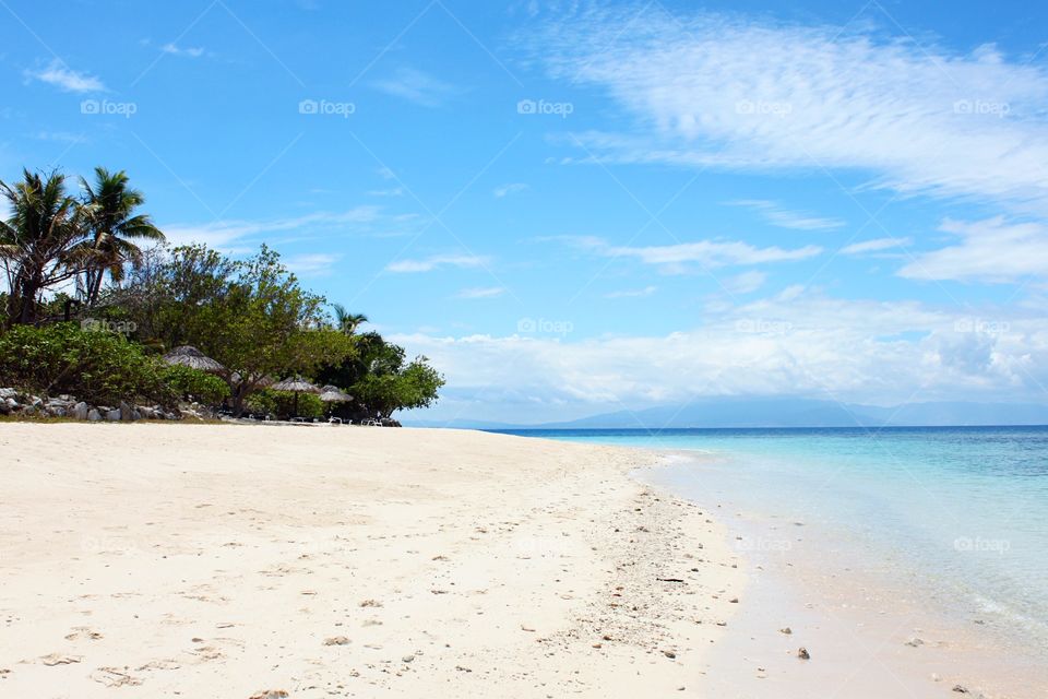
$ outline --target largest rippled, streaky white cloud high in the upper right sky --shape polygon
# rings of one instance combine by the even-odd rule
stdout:
[[[533,44],[553,76],[636,117],[633,137],[575,134],[599,158],[848,168],[904,193],[1048,213],[1048,73],[992,47],[657,7],[560,16]]]

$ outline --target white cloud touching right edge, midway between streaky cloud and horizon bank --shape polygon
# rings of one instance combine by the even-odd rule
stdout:
[[[925,252],[900,270],[915,280],[1008,283],[1048,274],[1048,225],[1009,223],[1003,216],[972,223],[946,220],[940,230],[957,245]]]

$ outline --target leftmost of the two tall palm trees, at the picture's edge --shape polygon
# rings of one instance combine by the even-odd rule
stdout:
[[[0,182],[11,216],[0,222],[0,260],[8,276],[8,322],[37,321],[38,296],[86,266],[84,212],[66,193],[66,176],[22,173],[15,185]]]

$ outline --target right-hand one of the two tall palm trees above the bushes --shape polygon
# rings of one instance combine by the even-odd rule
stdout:
[[[96,167],[94,189],[83,177],[80,183],[85,192],[84,209],[92,232],[93,260],[86,270],[84,285],[86,301],[91,306],[98,300],[106,272],[112,281],[120,282],[126,264],[141,262],[142,250],[132,239],[163,240],[164,234],[153,225],[148,215],[134,213],[145,203],[145,197],[128,187],[123,170],[110,173]]]

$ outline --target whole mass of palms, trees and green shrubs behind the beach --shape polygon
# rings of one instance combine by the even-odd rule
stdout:
[[[426,357],[407,362],[378,333],[358,334],[368,318],[302,288],[274,250],[230,259],[204,246],[167,248],[138,212],[145,200],[124,173],[96,168],[93,183],[80,182],[80,198],[59,173],[26,170],[14,185],[0,182],[10,210],[0,222],[0,384],[97,403],[325,414],[314,395],[265,389],[302,376],[352,394],[334,407],[355,419],[437,400],[443,378]],[[157,245],[142,249],[141,240]],[[72,296],[56,291],[70,286]],[[204,374],[162,362],[180,345],[224,368]]]

